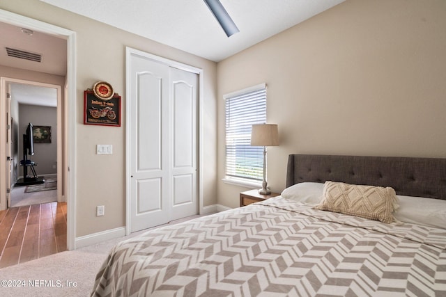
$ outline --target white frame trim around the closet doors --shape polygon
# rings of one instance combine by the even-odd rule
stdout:
[[[167,58],[162,58],[160,56],[155,56],[153,54],[148,54],[145,51],[139,51],[138,49],[132,49],[131,47],[125,47],[125,86],[126,86],[126,105],[125,105],[125,234],[130,234],[131,225],[131,213],[130,213],[130,56],[140,55],[146,58],[151,58],[153,61],[169,65],[171,67],[178,68],[187,72],[192,72],[198,74],[199,76],[199,88],[198,88],[198,111],[197,111],[197,133],[198,133],[198,204],[199,204],[199,214],[203,213],[203,70],[201,68],[193,67],[187,64],[179,63],[176,61],[169,60]]]

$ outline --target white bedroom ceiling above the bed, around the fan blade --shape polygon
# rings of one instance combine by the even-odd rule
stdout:
[[[240,29],[230,38],[203,0],[40,0],[219,62],[344,0],[220,0]]]

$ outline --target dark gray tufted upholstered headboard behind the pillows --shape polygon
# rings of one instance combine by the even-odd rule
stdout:
[[[289,155],[286,187],[325,181],[391,186],[398,195],[446,200],[446,159]]]

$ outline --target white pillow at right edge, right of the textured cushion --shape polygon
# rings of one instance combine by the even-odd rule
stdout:
[[[397,195],[399,209],[393,213],[401,222],[446,229],[446,200]]]

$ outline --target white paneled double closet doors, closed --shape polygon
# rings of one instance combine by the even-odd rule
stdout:
[[[198,74],[130,56],[130,231],[198,213]]]

